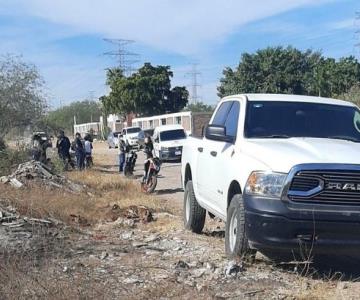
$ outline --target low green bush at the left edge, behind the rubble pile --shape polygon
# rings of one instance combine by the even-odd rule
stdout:
[[[2,149],[2,150],[1,150]],[[0,145],[0,176],[9,175],[19,164],[28,161],[30,150],[25,146],[17,149],[1,148]]]

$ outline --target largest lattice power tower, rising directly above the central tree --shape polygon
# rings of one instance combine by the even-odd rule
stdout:
[[[104,41],[116,46],[116,50],[105,52],[104,55],[116,57],[117,67],[124,72],[124,75],[131,75],[135,71],[133,64],[139,62],[140,55],[128,51],[126,47],[135,41],[125,39],[104,39]]]

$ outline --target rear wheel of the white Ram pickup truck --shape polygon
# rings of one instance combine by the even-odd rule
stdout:
[[[185,187],[183,218],[185,229],[201,233],[205,224],[206,210],[197,202],[191,180]]]

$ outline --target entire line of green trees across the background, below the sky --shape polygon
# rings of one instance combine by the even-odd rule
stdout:
[[[108,95],[99,101],[77,101],[48,109],[44,81],[31,63],[13,55],[0,56],[0,148],[14,129],[26,128],[72,132],[78,123],[99,121],[101,115],[133,112],[149,116],[181,110],[211,111],[204,103],[189,104],[189,92],[172,86],[169,66],[145,63],[125,76],[121,69],[107,70]],[[269,47],[243,53],[236,68],[227,67],[218,96],[238,93],[282,93],[340,98],[360,104],[360,63],[353,57],[338,60],[318,51],[293,47]]]

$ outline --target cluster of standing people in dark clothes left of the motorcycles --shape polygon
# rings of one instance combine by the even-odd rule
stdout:
[[[71,159],[70,149],[75,151],[76,168],[78,170],[83,170],[85,168],[85,160],[88,160],[88,163],[92,163],[93,146],[92,138],[89,134],[85,135],[83,140],[81,134],[77,132],[75,134],[75,140],[73,143],[70,143],[65,132],[61,130],[56,143],[56,148],[58,149],[59,158],[64,162],[65,169],[68,169],[69,165],[72,168],[75,168]]]

